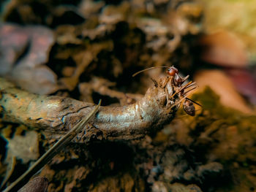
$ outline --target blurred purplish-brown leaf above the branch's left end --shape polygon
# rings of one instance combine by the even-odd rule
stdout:
[[[32,93],[49,94],[58,87],[56,74],[48,66],[53,32],[43,26],[0,26],[0,74]]]

